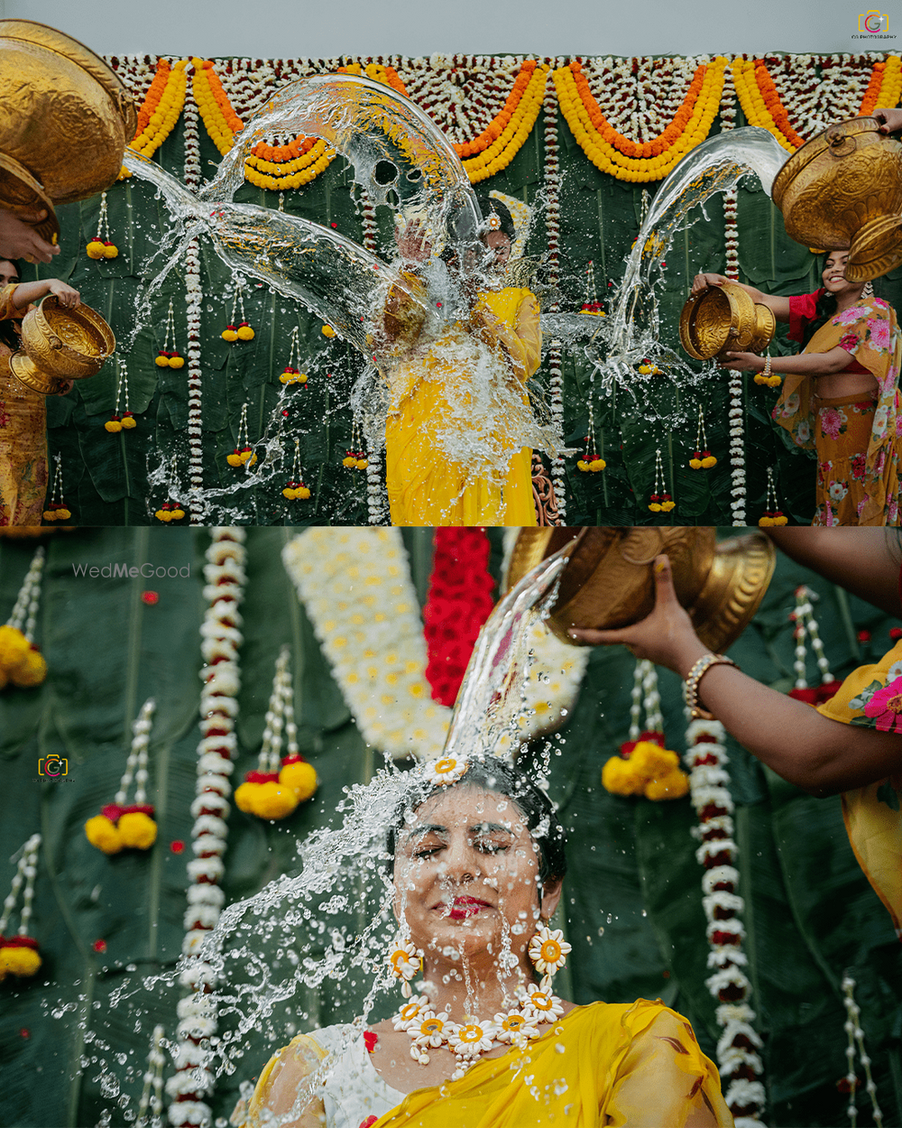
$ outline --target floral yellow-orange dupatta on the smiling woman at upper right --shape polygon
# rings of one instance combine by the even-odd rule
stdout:
[[[863,298],[831,317],[804,349],[825,353],[841,345],[870,372],[878,384],[874,425],[865,459],[865,503],[859,525],[899,525],[899,476],[902,446],[896,435],[900,416],[899,374],[902,367],[902,333],[895,311],[879,298]],[[792,435],[797,447],[814,446],[813,380],[787,376],[772,418]]]

